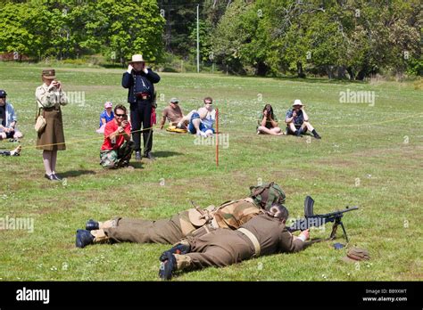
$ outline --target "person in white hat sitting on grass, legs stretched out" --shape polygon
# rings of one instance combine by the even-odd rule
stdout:
[[[304,110],[303,102],[299,99],[294,100],[293,109],[286,112],[286,134],[301,136],[307,130],[311,131],[316,139],[321,139],[313,126],[309,123],[309,116]]]

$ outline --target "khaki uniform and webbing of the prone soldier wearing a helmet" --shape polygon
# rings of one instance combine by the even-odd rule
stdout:
[[[217,228],[237,229],[261,208],[251,198],[229,201],[220,207],[204,210],[195,208],[183,211],[170,219],[149,221],[117,217],[100,225],[100,230],[91,231],[95,242],[176,243],[187,235],[202,235]]]

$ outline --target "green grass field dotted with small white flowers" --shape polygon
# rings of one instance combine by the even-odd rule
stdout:
[[[134,164],[132,171],[108,171],[98,164],[102,137],[95,129],[105,101],[126,102],[123,70],[57,68],[64,90],[85,92],[86,102],[62,109],[67,151],[59,152],[57,172],[66,180],[49,183],[41,151],[34,147],[34,93],[41,69],[0,64],[0,89],[8,93],[25,135],[21,157],[0,157],[0,218],[34,220],[34,232],[0,231],[0,281],[158,281],[158,257],[169,245],[77,249],[76,230],[89,218],[169,217],[190,208],[190,200],[218,205],[246,197],[249,186],[260,181],[282,186],[293,217],[303,215],[306,195],[314,198],[318,213],[359,206],[344,216],[344,224],[350,245],[369,249],[371,260],[344,263],[345,250],[328,241],[293,255],[184,273],[175,281],[423,280],[423,92],[413,83],[162,73],[156,87],[164,96],[159,110],[174,96],[184,111],[199,107],[206,95],[215,100],[220,131],[229,136],[228,148],[220,148],[219,167],[214,146],[156,129],[157,160]],[[339,94],[347,89],[375,92],[374,106],[340,103]],[[296,98],[306,104],[321,141],[255,134],[264,103],[283,120]],[[15,146],[0,142],[0,149]],[[329,233],[330,224],[325,232],[312,230],[311,237]]]

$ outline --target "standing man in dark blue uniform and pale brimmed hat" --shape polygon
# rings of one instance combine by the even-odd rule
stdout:
[[[152,69],[145,67],[143,55],[135,54],[129,62],[128,70],[123,74],[122,86],[128,88],[130,104],[130,121],[132,124],[132,140],[135,147],[135,159],[141,160],[141,131],[144,139],[144,157],[153,159],[153,126],[152,113],[154,102],[154,86],[160,77]],[[143,130],[141,130],[141,125]]]

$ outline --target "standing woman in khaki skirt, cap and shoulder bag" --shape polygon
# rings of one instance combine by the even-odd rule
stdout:
[[[36,97],[40,113],[46,118],[46,127],[37,137],[37,149],[43,151],[46,179],[61,181],[56,175],[57,151],[66,150],[63,135],[61,105],[67,103],[62,84],[55,80],[54,69],[45,69],[42,73],[44,84],[37,87]]]

